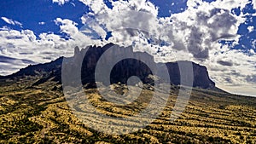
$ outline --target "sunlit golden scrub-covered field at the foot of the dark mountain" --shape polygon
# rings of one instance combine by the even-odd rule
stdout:
[[[153,123],[131,134],[107,135],[91,129],[91,125],[75,116],[60,84],[49,81],[32,86],[36,80],[27,78],[1,84],[0,143],[256,142],[256,98],[253,97],[194,89],[185,111],[175,121],[170,121],[177,99],[177,87],[173,86],[164,111]],[[113,88],[118,93],[127,90],[120,85],[113,85]],[[136,101],[125,107],[105,101],[96,89],[84,89],[84,93],[98,112],[121,118],[147,107],[153,92],[148,86]],[[77,107],[84,112],[86,106],[81,101]],[[101,123],[94,112],[85,113],[84,118]],[[115,124],[124,123],[117,121]]]

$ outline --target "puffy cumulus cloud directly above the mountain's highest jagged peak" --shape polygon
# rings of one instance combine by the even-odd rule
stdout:
[[[122,46],[131,43],[145,41],[149,37],[148,33],[157,28],[158,10],[153,3],[148,1],[116,1],[112,2],[113,9],[108,9],[103,1],[83,1],[92,10],[89,14],[84,14],[81,20],[84,23],[85,32],[104,39],[107,32],[112,32],[108,43],[118,43]]]

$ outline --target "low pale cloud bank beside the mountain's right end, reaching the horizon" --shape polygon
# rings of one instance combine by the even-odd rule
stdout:
[[[212,55],[210,59],[201,64],[208,67],[210,77],[219,88],[237,94],[253,95],[254,93],[256,95],[254,87],[256,81],[249,79],[256,76],[255,54],[249,56],[240,50],[230,50],[228,47],[224,47],[221,50],[213,49],[210,55]],[[218,62],[220,60],[224,62]],[[237,89],[239,87],[243,89]],[[248,93],[248,91],[250,92]]]

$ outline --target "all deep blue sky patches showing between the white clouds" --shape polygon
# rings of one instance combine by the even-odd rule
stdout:
[[[204,0],[205,2],[213,2],[215,0]],[[177,14],[187,9],[187,0],[150,0],[155,6],[159,7],[159,17],[168,17],[171,14]],[[104,3],[111,7],[111,3],[105,0]],[[174,4],[172,4],[174,3]],[[74,6],[75,5],[75,6]],[[232,9],[232,13],[249,13],[255,14],[252,3],[247,3],[245,9]],[[22,26],[11,25],[4,20],[0,20],[0,26],[8,26],[11,29],[32,30],[37,36],[42,32],[54,32],[60,33],[60,27],[55,25],[54,20],[56,18],[73,20],[78,23],[78,27],[84,26],[80,20],[83,14],[87,14],[90,8],[84,3],[73,0],[69,3],[59,5],[53,3],[51,0],[3,0],[0,6],[0,16],[6,17],[12,20],[19,21]],[[251,20],[252,19],[252,20]],[[248,32],[248,26],[256,26],[256,16],[248,15],[247,21],[239,26],[238,34],[241,34],[240,44],[234,46],[232,49],[242,49],[247,52],[251,48],[251,41],[256,37],[256,31]],[[44,22],[44,25],[40,25],[40,22]],[[224,43],[225,41],[221,41]]]

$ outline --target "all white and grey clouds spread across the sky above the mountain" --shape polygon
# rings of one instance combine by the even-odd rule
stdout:
[[[255,43],[252,42],[249,55],[219,43],[220,40],[230,40],[234,41],[234,46],[239,42],[238,27],[246,18],[243,13],[234,14],[232,9],[244,9],[249,0],[216,0],[212,3],[188,0],[186,10],[165,18],[158,17],[159,8],[148,0],[110,1],[113,9],[109,9],[103,0],[79,1],[90,8],[90,12],[81,17],[82,28],[78,29],[78,24],[72,20],[55,19],[67,39],[53,33],[41,33],[36,37],[30,30],[15,31],[3,27],[0,55],[45,62],[61,55],[72,55],[75,46],[132,44],[136,50],[154,55],[156,61],[193,60],[201,63],[208,67],[211,78],[220,88],[237,93],[244,90],[253,94],[255,91]],[[69,1],[52,2],[62,5]],[[252,3],[255,8],[255,0]],[[248,27],[248,31],[252,30],[253,27]],[[108,32],[112,37],[106,40]],[[237,90],[241,86],[245,89]]]

